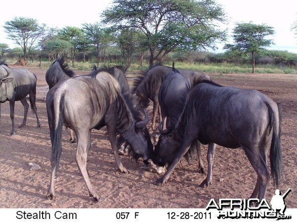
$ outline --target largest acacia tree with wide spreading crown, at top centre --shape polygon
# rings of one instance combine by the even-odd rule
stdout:
[[[225,39],[218,22],[225,13],[214,0],[114,0],[102,13],[103,22],[113,30],[136,29],[145,34],[149,64],[175,48],[215,48]]]

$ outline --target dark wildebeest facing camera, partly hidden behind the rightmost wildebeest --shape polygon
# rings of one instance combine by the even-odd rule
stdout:
[[[201,76],[200,78],[202,78]],[[200,79],[199,79],[200,80]],[[159,105],[161,109],[161,114],[163,117],[163,121],[161,121],[158,125],[158,129],[162,132],[162,125],[164,122],[164,118],[166,117],[166,129],[174,128],[177,123],[182,111],[186,105],[186,99],[190,93],[190,90],[195,86],[196,80],[192,79],[190,81],[189,78],[183,76],[180,72],[178,72],[174,68],[170,71],[165,80],[163,81],[160,89],[159,89]],[[198,153],[198,161],[199,168],[198,172],[204,173],[204,167],[201,158],[201,149],[200,143],[198,140],[194,140],[193,144],[189,149],[189,153],[185,155],[186,160],[189,162],[189,155],[193,157],[194,151]]]

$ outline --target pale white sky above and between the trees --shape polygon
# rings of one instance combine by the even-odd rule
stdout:
[[[266,24],[274,28],[271,36],[274,41],[270,50],[287,50],[297,53],[297,35],[291,30],[297,21],[297,0],[215,0],[221,4],[226,12],[228,22],[222,28],[228,28],[229,42],[232,43],[232,29],[236,23],[252,22]],[[39,24],[45,23],[48,27],[63,28],[65,26],[81,27],[82,23],[95,23],[100,19],[100,13],[110,7],[112,0],[82,0],[77,4],[71,0],[50,0],[46,3],[41,0],[13,0],[7,3],[5,10],[0,11],[0,43],[16,47],[8,40],[3,25],[14,17],[37,19]],[[225,43],[217,45],[215,53],[222,52]]]

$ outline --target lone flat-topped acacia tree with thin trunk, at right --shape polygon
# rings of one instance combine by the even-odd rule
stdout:
[[[254,73],[255,54],[273,44],[271,39],[266,39],[267,36],[273,34],[273,28],[265,24],[237,23],[237,26],[233,29],[234,44],[226,44],[224,49],[238,50],[244,54],[251,54],[252,73]]]

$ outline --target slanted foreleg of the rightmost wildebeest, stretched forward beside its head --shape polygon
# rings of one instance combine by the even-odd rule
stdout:
[[[161,178],[159,178],[157,181],[154,182],[155,185],[161,185],[161,184],[164,184],[167,182],[167,180],[170,177],[170,174],[172,173],[172,171],[174,170],[176,165],[182,160],[182,158],[185,156],[185,154],[190,149],[191,144],[192,144],[191,141],[187,141],[182,144],[182,146],[178,150],[178,153],[176,154],[174,160],[172,161],[172,164],[168,168],[167,172]]]

